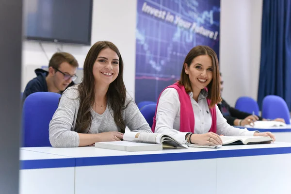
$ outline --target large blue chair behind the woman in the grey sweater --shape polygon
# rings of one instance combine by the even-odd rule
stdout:
[[[25,99],[22,109],[22,146],[51,146],[49,122],[58,108],[60,97],[57,93],[36,92]]]

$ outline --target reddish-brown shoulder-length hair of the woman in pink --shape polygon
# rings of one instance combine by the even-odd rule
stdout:
[[[209,107],[212,108],[218,102],[221,102],[220,97],[220,86],[219,86],[219,66],[218,66],[218,59],[215,51],[208,46],[196,46],[189,51],[187,54],[185,61],[183,63],[183,68],[181,72],[181,78],[179,81],[180,85],[185,87],[187,93],[192,91],[191,81],[189,79],[189,75],[185,72],[184,64],[187,64],[188,68],[190,67],[193,59],[200,55],[208,55],[212,60],[213,71],[212,71],[212,81],[207,85],[208,89],[208,96],[207,98],[210,99]]]

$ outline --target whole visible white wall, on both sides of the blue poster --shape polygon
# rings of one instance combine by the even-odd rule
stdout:
[[[122,54],[124,81],[134,97],[136,0],[94,0],[92,44],[112,41]],[[259,85],[262,0],[221,0],[220,66],[224,76],[223,97],[234,105],[240,96],[257,99]],[[50,58],[59,47],[43,43]],[[81,67],[90,47],[64,44]],[[22,90],[35,77],[33,70],[48,65],[38,42],[24,41]]]

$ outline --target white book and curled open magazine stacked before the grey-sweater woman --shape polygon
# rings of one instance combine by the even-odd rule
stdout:
[[[156,151],[187,148],[169,135],[145,132],[126,132],[123,134],[123,141],[97,142],[95,147],[120,151]]]

